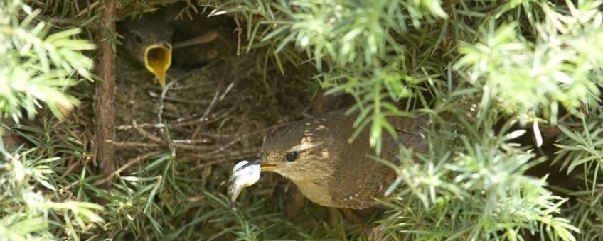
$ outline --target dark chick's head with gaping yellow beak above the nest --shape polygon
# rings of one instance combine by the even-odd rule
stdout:
[[[144,65],[165,88],[166,72],[171,66],[170,44],[173,30],[161,19],[145,14],[137,20],[122,21],[119,31],[124,36],[123,48],[131,58]]]

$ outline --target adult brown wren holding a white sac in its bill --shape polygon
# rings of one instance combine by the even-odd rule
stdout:
[[[291,179],[306,198],[321,206],[373,206],[374,198],[383,198],[397,174],[368,157],[375,153],[369,145],[368,128],[348,143],[357,116],[338,110],[289,124],[267,136],[260,157],[250,164]],[[397,162],[397,145],[427,151],[422,135],[426,118],[395,116],[388,121],[398,131],[398,138],[383,135],[382,158]]]

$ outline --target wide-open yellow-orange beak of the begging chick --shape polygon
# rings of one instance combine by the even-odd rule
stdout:
[[[144,50],[144,66],[155,74],[161,89],[166,87],[166,71],[171,65],[171,45],[161,42],[149,45]]]

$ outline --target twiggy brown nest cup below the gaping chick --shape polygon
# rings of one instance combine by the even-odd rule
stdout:
[[[118,59],[111,140],[118,167],[172,152],[186,167],[178,168],[183,176],[198,177],[212,165],[230,169],[236,160],[255,157],[265,135],[301,117],[310,97],[301,80],[309,79],[309,69],[285,65],[285,76],[271,55],[238,56],[235,40],[218,41],[233,51],[220,51],[224,55],[205,66],[170,69],[164,91],[144,67]]]

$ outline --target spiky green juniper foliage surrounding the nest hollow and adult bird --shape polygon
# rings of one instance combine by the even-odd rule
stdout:
[[[95,186],[101,177],[86,167],[62,176],[68,160],[91,156],[70,136],[76,127],[58,118],[60,108],[77,106],[73,96],[82,94],[68,87],[91,78],[92,60],[81,52],[93,49],[82,40],[92,35],[76,27],[93,28],[98,4],[49,1],[43,9],[33,1],[0,3],[2,126],[33,144],[7,150],[0,142],[0,237],[365,238],[343,218],[337,225],[286,220],[282,205],[270,206],[261,194],[243,194],[247,201],[233,209],[215,192],[220,184],[207,184],[203,198],[195,198],[190,190],[198,180],[175,174],[178,157],[171,152],[118,176],[110,189]],[[159,4],[124,1],[120,14]],[[326,94],[351,94],[351,111],[361,111],[356,128],[370,129],[377,154],[382,135],[396,135],[387,116],[431,118],[429,152],[402,148],[399,162],[375,160],[399,174],[390,198],[380,201],[388,212],[375,220],[386,239],[603,238],[603,1],[188,4],[240,18],[243,52],[265,52],[265,63],[285,77],[287,65],[311,65],[311,82]],[[43,21],[56,18],[67,19],[68,27]],[[8,119],[19,123],[23,113],[32,117],[45,109],[56,117],[39,113],[43,125],[9,126]],[[553,142],[554,153],[543,150]],[[538,165],[550,165],[548,174],[527,174]],[[228,167],[217,168],[228,173]],[[561,174],[577,183],[549,183]],[[61,192],[65,186],[73,188],[70,195]],[[313,206],[306,214],[321,211]]]

